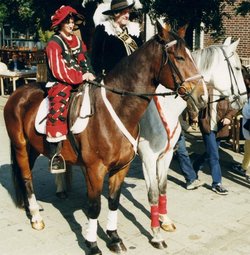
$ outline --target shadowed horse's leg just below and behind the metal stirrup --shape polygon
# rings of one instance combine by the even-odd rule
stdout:
[[[65,173],[55,174],[56,196],[60,199],[68,197],[67,190],[71,184],[72,166],[67,164],[66,169]]]

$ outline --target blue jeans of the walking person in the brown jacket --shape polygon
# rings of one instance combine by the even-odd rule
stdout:
[[[220,140],[216,139],[216,132],[211,131],[209,134],[202,134],[203,141],[206,148],[206,153],[198,157],[194,162],[194,170],[200,170],[207,160],[209,168],[211,170],[213,183],[212,186],[215,186],[218,183],[221,183],[221,167],[220,167],[220,156],[219,156],[219,146]]]

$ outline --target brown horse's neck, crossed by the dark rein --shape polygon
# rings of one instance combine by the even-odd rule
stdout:
[[[105,85],[109,87],[138,94],[138,96],[119,96],[110,92],[107,94],[117,115],[132,125],[139,122],[149,104],[149,101],[140,97],[140,94],[152,94],[156,90],[153,83],[155,73],[152,68],[155,61],[152,55],[156,54],[157,52],[147,54],[146,50],[138,49],[133,56],[123,59],[105,79]]]

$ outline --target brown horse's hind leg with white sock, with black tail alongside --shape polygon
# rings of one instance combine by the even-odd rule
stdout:
[[[19,141],[18,139],[16,141]],[[34,149],[28,148],[26,144],[15,144],[12,150],[13,156],[13,175],[15,179],[19,179],[19,188],[23,190],[22,200],[25,203],[28,200],[28,209],[31,216],[32,228],[41,230],[44,228],[44,222],[40,215],[40,206],[37,203],[34,193],[31,168],[34,166],[35,160],[38,157],[38,153]],[[17,193],[18,187],[16,187]],[[23,188],[22,188],[23,187]],[[20,203],[18,201],[18,203]],[[21,205],[21,204],[20,204]]]

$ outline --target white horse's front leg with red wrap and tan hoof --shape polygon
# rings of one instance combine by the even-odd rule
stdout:
[[[176,227],[173,221],[167,215],[167,174],[173,157],[173,150],[168,151],[161,159],[157,161],[157,171],[159,178],[159,219],[161,228],[168,232],[173,232]]]

